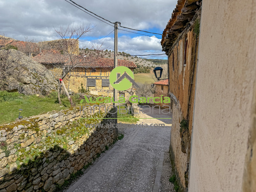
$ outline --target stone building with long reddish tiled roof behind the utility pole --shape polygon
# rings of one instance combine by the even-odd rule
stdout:
[[[63,80],[70,91],[77,93],[82,84],[91,94],[113,96],[113,87],[109,82],[110,73],[114,68],[113,59],[77,55],[70,58],[56,50],[40,53],[33,59],[52,71],[56,79],[61,78],[63,70],[68,70],[69,73]],[[118,60],[118,66],[127,67],[132,71],[137,67],[132,61],[126,60]],[[119,92],[119,95],[127,97],[133,93],[134,90],[131,88]]]

